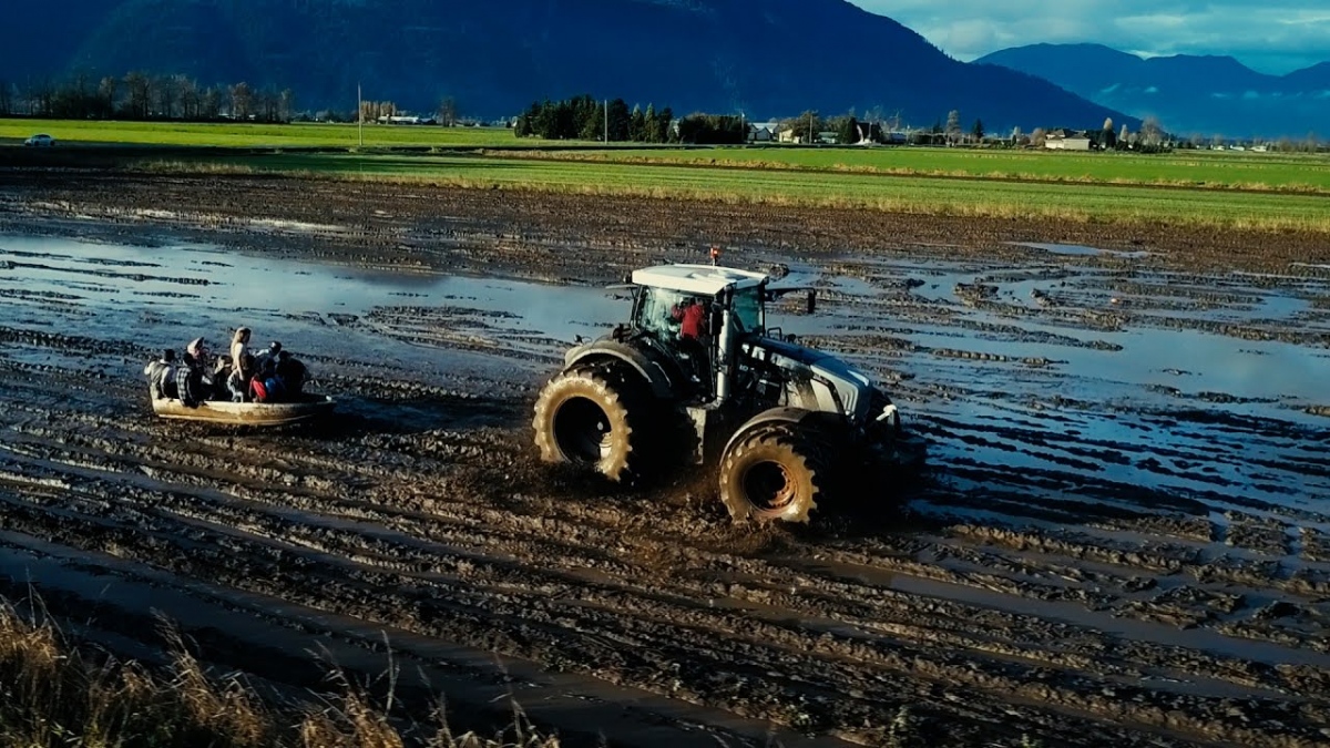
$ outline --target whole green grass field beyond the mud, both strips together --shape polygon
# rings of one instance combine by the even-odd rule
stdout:
[[[282,172],[587,194],[928,214],[1061,217],[1311,230],[1330,234],[1330,157],[1174,152],[1063,153],[948,148],[587,148],[500,128],[0,120],[0,144],[47,132],[78,145],[235,148],[141,158],[172,172]],[[576,150],[560,146],[579,145]],[[394,153],[394,148],[430,153]],[[57,146],[59,148],[59,146]],[[253,153],[239,149],[277,149]],[[299,148],[344,149],[299,152]],[[450,149],[473,153],[448,153]],[[104,149],[105,150],[105,149]],[[136,156],[137,158],[138,156]]]

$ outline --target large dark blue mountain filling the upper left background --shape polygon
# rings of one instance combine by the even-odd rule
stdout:
[[[63,0],[0,24],[0,81],[130,71],[294,91],[302,109],[364,97],[501,117],[588,93],[779,118],[899,114],[966,130],[1132,122],[1039,77],[958,61],[845,0]]]

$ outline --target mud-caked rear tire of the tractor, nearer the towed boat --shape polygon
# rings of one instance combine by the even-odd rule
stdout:
[[[632,373],[595,366],[563,371],[536,398],[540,458],[636,483],[653,457],[649,407],[645,385]]]

